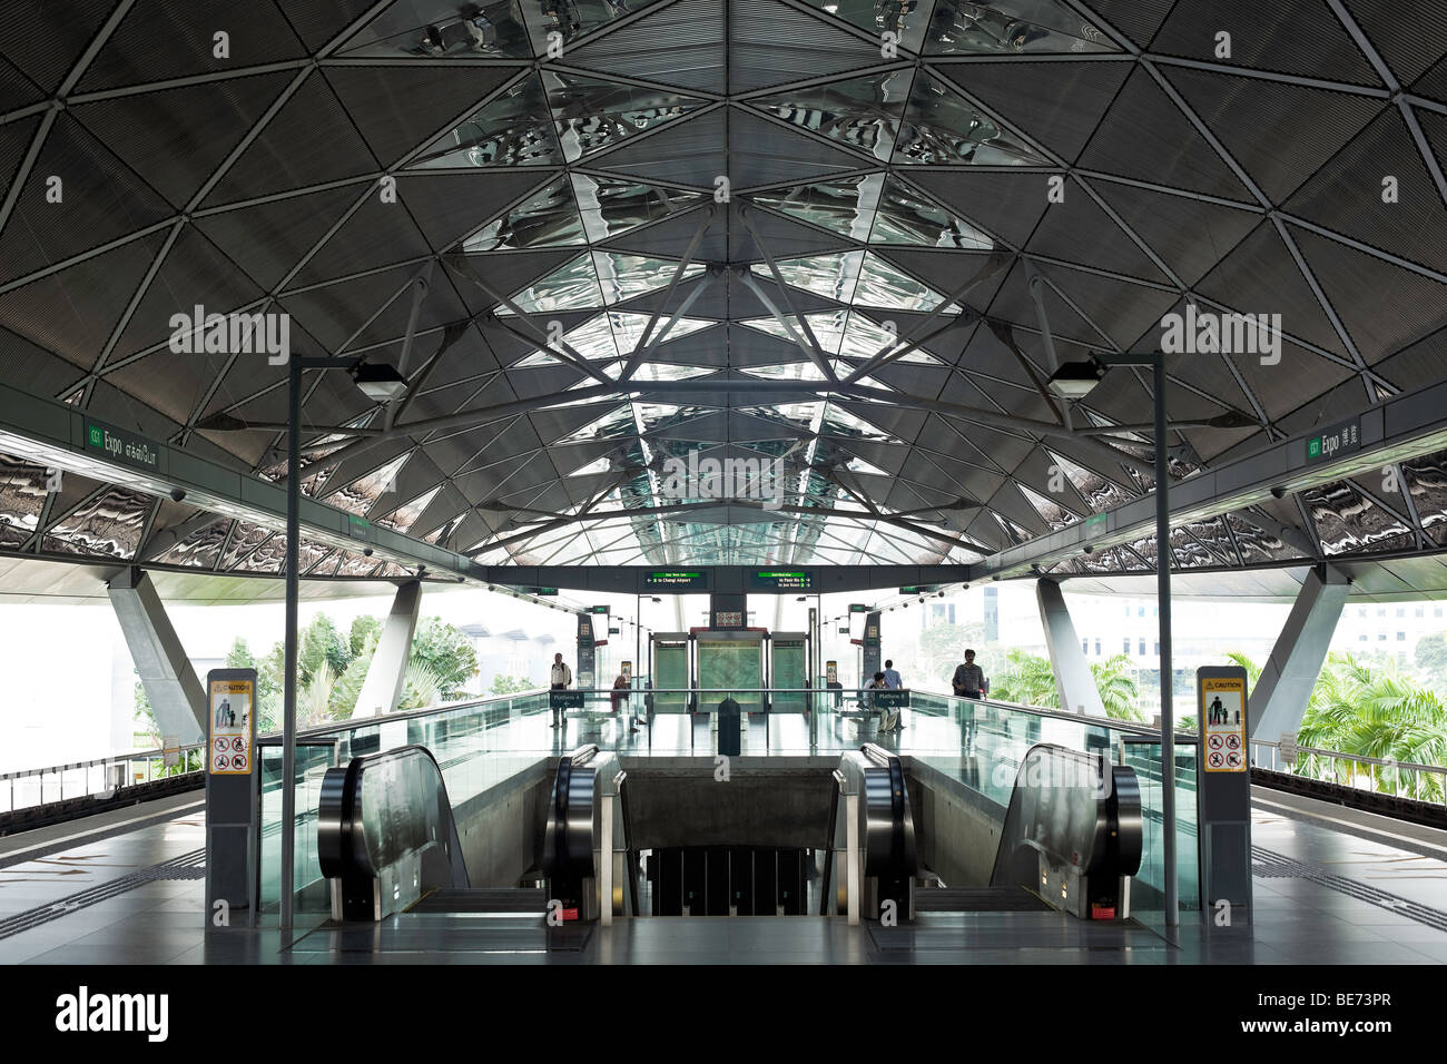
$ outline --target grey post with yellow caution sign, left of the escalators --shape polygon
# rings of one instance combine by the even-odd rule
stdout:
[[[256,670],[205,676],[207,926],[247,926],[256,915]]]

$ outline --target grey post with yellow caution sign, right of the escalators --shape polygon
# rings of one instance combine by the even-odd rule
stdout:
[[[1202,922],[1211,929],[1252,922],[1252,777],[1246,670],[1195,672],[1195,795]]]

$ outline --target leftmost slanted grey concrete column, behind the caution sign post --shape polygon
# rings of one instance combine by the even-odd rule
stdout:
[[[171,618],[145,570],[129,567],[106,585],[162,737],[205,741],[205,689],[187,660]],[[129,741],[129,740],[127,740]]]

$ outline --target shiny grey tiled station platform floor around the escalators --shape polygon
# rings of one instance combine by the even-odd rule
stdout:
[[[760,916],[557,929],[531,915],[410,913],[346,928],[302,915],[284,937],[205,926],[192,793],[0,840],[0,964],[1447,963],[1447,861],[1260,806],[1253,843],[1250,928],[1207,931],[1194,912],[1169,934],[1149,918],[1056,912],[928,912],[896,928]]]

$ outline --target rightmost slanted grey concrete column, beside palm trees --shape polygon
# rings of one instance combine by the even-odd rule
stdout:
[[[1349,591],[1350,580],[1340,569],[1321,565],[1307,573],[1270,659],[1262,666],[1256,691],[1250,692],[1250,735],[1275,743],[1282,732],[1297,731],[1327,660]]]

